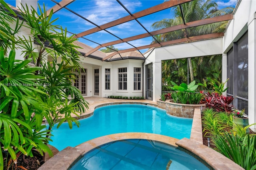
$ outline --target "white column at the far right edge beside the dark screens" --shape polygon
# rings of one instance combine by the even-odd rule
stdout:
[[[256,14],[248,21],[248,117],[256,123]],[[254,132],[256,125],[250,127]]]

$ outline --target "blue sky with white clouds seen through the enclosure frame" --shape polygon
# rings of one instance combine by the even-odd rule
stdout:
[[[16,6],[15,0],[5,0],[7,3],[11,4],[12,6]],[[56,0],[60,2],[60,0]],[[156,6],[164,2],[164,0],[120,0],[124,6],[132,13],[136,13],[138,11],[144,10],[146,8],[150,8],[152,6]],[[217,0],[219,9],[225,8],[227,6],[235,7],[237,0]],[[52,6],[55,5],[54,2],[50,0],[38,0],[40,6],[44,3],[47,6],[47,9],[50,9]],[[116,0],[76,0],[67,6],[70,10],[80,14],[84,18],[94,22],[97,25],[106,24],[108,22],[117,20],[124,16],[128,16],[128,12],[120,6],[120,4]],[[78,34],[80,32],[89,30],[94,28],[95,26],[91,23],[87,22],[86,20],[72,14],[66,9],[62,9],[54,14],[53,18],[59,18],[56,21],[56,25],[61,25],[63,28],[67,28],[68,31]],[[157,12],[155,14],[151,14],[148,16],[144,16],[139,18],[139,22],[141,22],[144,27],[148,31],[153,31],[151,28],[152,23],[160,21],[165,18],[172,18],[172,12],[170,9],[163,10],[161,12]],[[136,22],[132,20],[130,22],[120,24],[118,26],[114,26],[112,28],[107,29],[109,32],[115,34],[120,38],[128,38],[131,36],[135,36],[138,34],[146,33],[146,31]],[[71,34],[70,34],[71,35]],[[111,42],[114,40],[119,40],[118,38],[108,34],[105,31],[100,31],[94,34],[90,34],[84,36],[89,40],[92,40],[97,43],[106,43]],[[81,39],[80,42],[83,42],[91,47],[96,47],[98,44]],[[152,42],[152,38],[143,38],[139,40],[134,40],[131,43],[135,46],[142,46],[148,45]],[[131,45],[127,43],[120,43],[114,45],[114,47],[118,49],[127,49],[132,48]],[[145,50],[142,50],[144,52]]]

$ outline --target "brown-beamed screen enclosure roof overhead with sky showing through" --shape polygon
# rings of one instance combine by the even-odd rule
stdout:
[[[197,29],[199,26],[227,22],[233,19],[233,14],[220,14],[203,20],[190,20],[186,22],[184,9],[181,4],[186,4],[192,0],[170,0],[170,1],[80,1],[80,0],[46,0],[46,1],[17,1],[17,7],[22,8],[20,4],[32,5],[37,8],[46,6],[47,14],[53,12],[53,18],[59,17],[56,24],[67,28],[70,35],[78,38],[79,42],[92,47],[83,46],[81,50],[84,57],[100,57],[102,61],[113,61],[132,57],[136,59],[145,59],[144,52],[153,47],[163,47],[177,43],[194,42],[224,36],[224,29],[220,32],[212,31],[208,33],[189,34],[189,29]],[[6,1],[8,2],[8,1]],[[14,1],[10,1],[14,4]],[[19,2],[21,2],[19,4]],[[28,2],[28,3],[27,3]],[[96,2],[96,3],[95,3]],[[149,3],[150,2],[150,3]],[[90,5],[88,5],[90,4]],[[147,4],[147,5],[145,5]],[[233,4],[234,6],[235,4]],[[152,28],[154,22],[163,19],[172,19],[174,7],[182,13],[182,24],[166,28]],[[228,6],[225,6],[228,7]],[[91,10],[92,8],[93,10]],[[92,12],[87,13],[86,11]],[[116,13],[116,14],[115,14]],[[108,16],[110,15],[110,16]],[[75,27],[72,25],[76,25]],[[135,28],[135,29],[134,29]],[[182,30],[186,35],[180,35],[178,38],[165,41],[161,37],[168,32],[177,32]],[[110,41],[112,40],[112,41]],[[111,48],[113,45],[118,47],[112,50],[114,52],[102,55],[97,53],[104,47]],[[138,53],[124,54],[130,51]],[[122,54],[123,53],[123,54]]]

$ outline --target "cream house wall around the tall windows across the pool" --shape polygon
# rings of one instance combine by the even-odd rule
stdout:
[[[134,91],[134,67],[141,68],[143,73],[142,60],[125,59],[121,61],[105,62],[90,57],[81,57],[81,66],[87,69],[87,95],[86,97],[108,97],[114,96],[143,96],[141,79],[141,90]],[[118,68],[127,67],[127,90],[118,90]],[[99,95],[94,95],[94,69],[99,69],[100,91]],[[105,69],[110,69],[110,90],[105,89]]]

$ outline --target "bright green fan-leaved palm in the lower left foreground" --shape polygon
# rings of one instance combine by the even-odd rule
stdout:
[[[31,150],[36,148],[40,154],[52,151],[46,144],[50,138],[49,130],[42,125],[43,118],[52,122],[48,114],[48,105],[40,95],[46,93],[36,87],[35,82],[44,77],[34,75],[41,67],[27,67],[31,59],[15,60],[15,50],[10,51],[9,57],[4,56],[0,47],[0,142],[1,169],[3,169],[2,150],[8,150],[13,163],[17,164],[20,153],[33,156]],[[42,87],[43,88],[43,87]],[[39,94],[39,95],[38,95]]]

